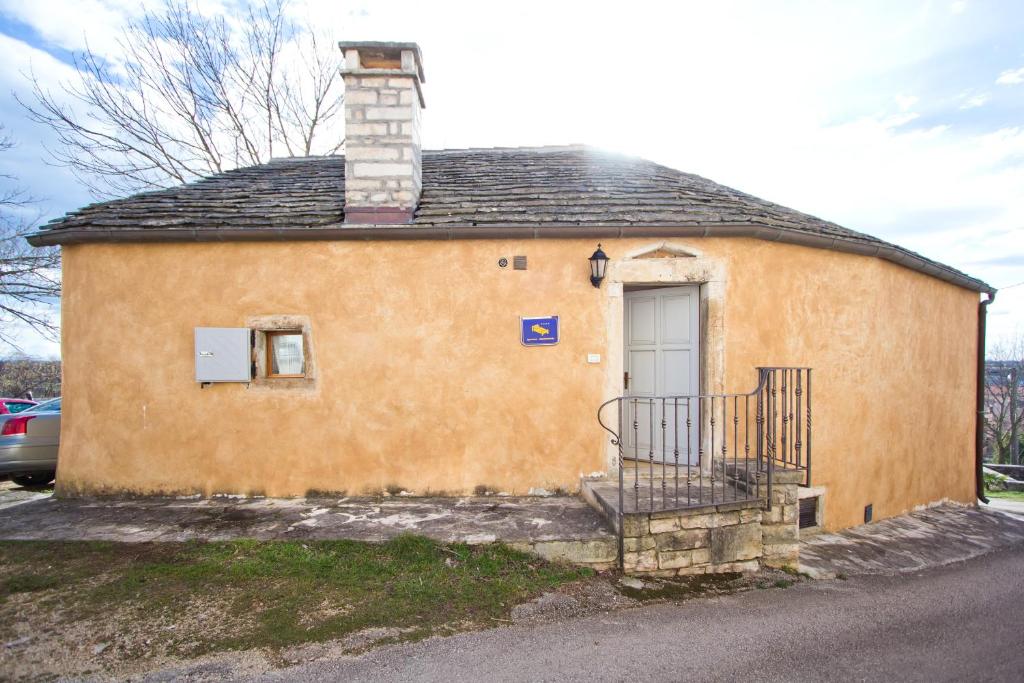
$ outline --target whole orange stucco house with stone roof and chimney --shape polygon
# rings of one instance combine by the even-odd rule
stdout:
[[[345,157],[31,239],[63,253],[60,495],[577,492],[617,471],[609,398],[799,367],[820,525],[973,504],[987,285],[643,160],[422,151],[415,45],[343,49]]]

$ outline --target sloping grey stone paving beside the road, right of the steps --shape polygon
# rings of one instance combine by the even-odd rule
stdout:
[[[961,562],[1024,544],[1024,516],[939,506],[800,543],[812,577],[898,574]]]

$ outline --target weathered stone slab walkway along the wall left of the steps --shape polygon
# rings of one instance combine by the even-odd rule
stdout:
[[[584,501],[551,498],[56,499],[12,505],[0,540],[380,542],[419,533],[443,542],[502,541],[598,568],[615,537]]]

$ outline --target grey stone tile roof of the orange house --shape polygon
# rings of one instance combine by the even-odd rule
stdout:
[[[222,231],[222,239],[244,239],[240,231],[252,231],[253,238],[268,233],[280,238],[287,232],[291,239],[303,239],[295,237],[297,230],[327,236],[324,228],[353,229],[351,224],[343,225],[344,183],[344,157],[274,160],[177,187],[93,204],[51,221],[31,241],[106,241],[125,239],[123,233],[133,240],[185,239],[199,231]],[[862,232],[697,175],[586,146],[425,150],[423,193],[414,224],[518,227],[524,234],[531,230],[536,234],[534,228],[545,226],[578,227],[581,234],[596,226],[687,226],[703,228],[699,233],[708,236],[741,234],[737,226],[770,228],[768,237],[757,237],[785,234],[791,239],[783,241],[801,242],[803,236],[817,246],[836,243],[844,251],[884,258],[889,257],[882,252],[892,253],[895,257],[889,260],[979,291],[991,289],[949,266]],[[178,231],[182,234],[175,238]],[[567,232],[571,231],[560,230],[558,237]],[[621,233],[641,232],[624,229]],[[228,233],[230,238],[225,238]]]

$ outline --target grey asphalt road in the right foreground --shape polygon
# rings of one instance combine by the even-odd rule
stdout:
[[[268,681],[1021,681],[1024,548],[319,659]]]

